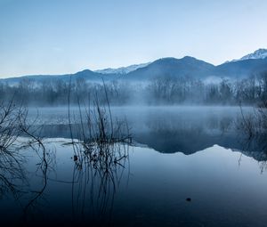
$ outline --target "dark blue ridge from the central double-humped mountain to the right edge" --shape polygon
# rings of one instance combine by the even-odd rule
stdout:
[[[198,79],[250,77],[267,71],[267,58],[263,58],[264,49],[260,50],[262,51],[255,52],[255,56],[261,56],[259,59],[228,61],[218,66],[189,56],[182,59],[163,58],[153,61],[146,67],[128,73],[125,78],[147,80],[156,77],[193,77]]]

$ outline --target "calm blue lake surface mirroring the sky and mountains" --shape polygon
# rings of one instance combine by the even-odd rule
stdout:
[[[19,173],[2,172],[5,225],[267,226],[267,157],[236,130],[239,108],[112,109],[134,146],[117,146],[128,158],[109,174],[74,158],[66,109],[39,112],[48,166],[22,149]]]

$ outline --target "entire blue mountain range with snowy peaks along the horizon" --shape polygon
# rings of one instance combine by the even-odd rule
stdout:
[[[214,66],[206,61],[186,56],[182,59],[163,58],[151,63],[132,65],[118,69],[102,69],[92,71],[85,69],[75,74],[66,75],[35,75],[4,78],[0,81],[17,84],[21,79],[44,81],[63,80],[69,81],[83,78],[86,81],[101,82],[109,80],[145,81],[156,77],[193,77],[206,79],[208,77],[228,77],[232,79],[249,77],[253,74],[267,71],[267,50],[259,49],[255,53],[247,54],[239,60],[227,61],[221,65]]]

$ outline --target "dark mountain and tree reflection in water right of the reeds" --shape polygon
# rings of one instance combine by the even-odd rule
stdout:
[[[144,109],[137,113],[132,110],[126,109],[121,111],[122,114],[117,113],[118,118],[124,118],[126,115],[134,141],[146,144],[158,152],[182,152],[189,155],[214,144],[242,152],[266,150],[264,135],[262,139],[254,139],[248,145],[245,132],[238,130],[239,108],[171,107]],[[70,138],[68,127],[44,126],[43,135]],[[262,160],[259,159],[259,152],[255,158]]]

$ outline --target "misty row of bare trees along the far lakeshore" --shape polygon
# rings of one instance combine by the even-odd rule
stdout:
[[[95,98],[105,104],[107,96],[111,105],[255,105],[267,100],[267,72],[241,80],[222,78],[219,83],[167,76],[143,83],[122,80],[93,83],[83,78],[42,83],[26,78],[17,85],[0,83],[0,101],[12,98],[26,105],[75,105],[77,101]]]

